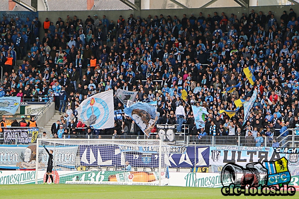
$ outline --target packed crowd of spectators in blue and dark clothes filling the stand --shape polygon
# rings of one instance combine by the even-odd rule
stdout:
[[[299,17],[292,8],[281,14],[191,13],[182,19],[131,14],[115,22],[105,15],[44,22],[4,18],[0,96],[20,96],[28,102],[54,99],[65,116],[53,124],[53,134],[70,128],[74,134],[137,135],[140,128],[124,115],[123,124],[115,122],[113,129],[79,132],[76,127],[84,124],[77,121],[75,108],[98,92],[138,91],[136,101],[157,101],[159,124],[188,124],[189,134],[199,138],[246,135],[262,146],[261,137],[284,137],[287,128],[299,128]],[[23,59],[19,70],[13,69],[15,59]],[[254,86],[243,73],[246,67],[257,79]],[[239,82],[234,92],[222,94]],[[249,100],[253,87],[259,93],[248,118],[242,108],[232,118],[219,114],[235,110],[239,98]],[[182,89],[188,92],[186,101]],[[123,109],[116,97],[114,105]],[[207,108],[205,128],[196,129],[191,105]],[[248,121],[244,127],[243,120]],[[178,133],[184,130],[178,128]]]

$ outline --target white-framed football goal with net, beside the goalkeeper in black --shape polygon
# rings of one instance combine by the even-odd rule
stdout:
[[[160,140],[37,139],[37,184],[46,179],[44,146],[53,150],[54,183],[67,184],[167,185],[165,159],[178,151]]]

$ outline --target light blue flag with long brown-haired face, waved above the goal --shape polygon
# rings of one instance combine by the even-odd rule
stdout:
[[[160,116],[160,113],[156,112],[156,108],[146,102],[137,102],[129,107],[126,106],[123,111],[135,121],[148,137]]]

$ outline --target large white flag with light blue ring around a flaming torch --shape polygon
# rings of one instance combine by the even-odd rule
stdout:
[[[114,127],[113,90],[95,94],[76,108],[78,119],[96,129]]]

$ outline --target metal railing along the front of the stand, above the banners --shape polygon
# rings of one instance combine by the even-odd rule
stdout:
[[[187,125],[183,125],[185,128],[187,128]],[[30,127],[6,127],[6,128],[30,128]],[[34,127],[33,127],[34,128]],[[38,128],[38,135],[37,138],[42,137],[42,132],[46,131],[44,127],[36,127]],[[76,129],[85,129],[85,128],[76,128]],[[187,128],[189,129],[189,128]],[[276,131],[279,131],[280,129],[275,129]],[[164,142],[169,145],[178,145],[178,146],[189,146],[189,145],[202,145],[202,146],[265,146],[265,147],[271,147],[274,142],[277,142],[280,147],[296,147],[299,146],[299,135],[296,135],[296,132],[299,131],[296,128],[289,128],[287,129],[289,131],[289,135],[287,136],[277,136],[275,138],[273,137],[261,137],[262,140],[260,140],[259,143],[256,142],[254,139],[248,139],[246,136],[194,136],[194,135],[188,135],[186,134],[175,134],[172,138],[165,137]],[[46,131],[47,132],[47,131]],[[28,131],[29,133],[29,131]],[[13,134],[14,140],[11,142],[5,142],[4,141],[4,134],[0,134],[0,144],[22,144],[18,143],[18,135]],[[30,139],[30,137],[28,137]],[[51,135],[51,138],[56,138],[53,135]],[[58,136],[57,136],[57,139]],[[149,137],[146,135],[86,135],[86,134],[67,134],[62,135],[61,139],[160,139],[156,133],[150,134]],[[168,140],[173,139],[173,140]],[[274,141],[275,140],[275,141]],[[34,144],[36,143],[30,143]]]

